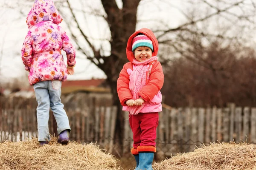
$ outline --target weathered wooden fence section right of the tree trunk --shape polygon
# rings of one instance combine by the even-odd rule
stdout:
[[[128,136],[132,132],[126,122]],[[162,155],[189,152],[210,142],[256,142],[256,108],[229,104],[228,108],[163,108],[159,113],[157,147]]]

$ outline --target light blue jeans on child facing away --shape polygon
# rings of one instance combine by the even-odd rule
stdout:
[[[36,109],[38,121],[38,141],[49,141],[49,109],[51,108],[57,122],[57,131],[71,130],[67,113],[61,103],[61,81],[43,81],[34,85],[35,97],[38,102]]]

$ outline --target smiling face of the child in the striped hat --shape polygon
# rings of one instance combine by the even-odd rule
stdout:
[[[134,51],[134,57],[139,62],[143,62],[152,57],[152,50],[149,47],[138,47]]]

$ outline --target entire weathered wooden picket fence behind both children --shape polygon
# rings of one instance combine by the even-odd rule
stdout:
[[[0,142],[37,137],[36,105],[30,99],[26,102],[19,100],[0,100]],[[116,144],[116,107],[99,105],[86,96],[70,97],[68,101],[64,105],[72,128],[70,139],[81,143],[97,142],[112,152]],[[123,124],[121,152],[128,153],[133,142],[132,132],[128,113],[123,114],[126,120]],[[51,134],[54,128],[50,113]],[[256,108],[241,108],[230,104],[227,108],[163,108],[163,112],[159,113],[157,147],[164,156],[191,151],[201,143],[241,140],[256,142]]]

